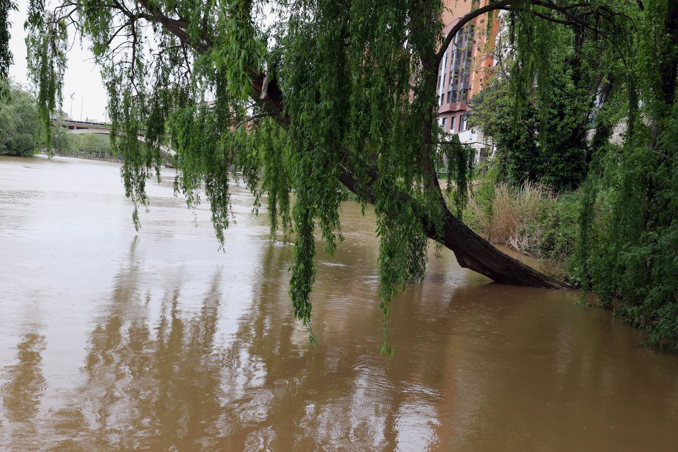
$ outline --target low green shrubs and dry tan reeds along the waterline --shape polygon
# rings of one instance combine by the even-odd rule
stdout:
[[[563,268],[563,279],[582,293],[593,291],[603,307],[647,331],[649,344],[678,352],[675,219],[658,231],[641,230],[635,243],[620,241],[629,232],[615,225],[631,222],[633,211],[643,208],[620,208],[622,197],[629,196],[623,187],[584,186],[558,193],[536,182],[518,186],[498,180],[499,172],[495,162],[471,190],[464,222],[492,243]],[[591,218],[582,228],[586,215]],[[624,226],[633,228],[633,223]]]

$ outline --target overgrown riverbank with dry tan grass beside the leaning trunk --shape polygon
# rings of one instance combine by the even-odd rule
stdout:
[[[463,220],[494,245],[535,258],[547,269],[542,270],[546,274],[574,287],[589,287],[586,302],[612,310],[615,316],[645,331],[649,336],[646,344],[678,353],[678,300],[671,295],[678,275],[663,279],[660,285],[647,282],[652,265],[657,268],[654,260],[664,262],[671,245],[664,239],[668,248],[643,249],[641,253],[635,251],[637,255],[623,249],[610,253],[605,244],[614,243],[617,233],[608,226],[612,224],[610,199],[614,196],[612,190],[597,189],[584,245],[580,242],[581,190],[556,193],[532,182],[511,187],[490,173],[471,190]],[[615,262],[610,262],[614,255]],[[620,263],[624,261],[626,264]],[[616,268],[615,272],[631,272],[633,278],[614,283],[616,274],[605,270],[610,267]],[[659,266],[664,272],[673,267],[675,262],[670,261]]]

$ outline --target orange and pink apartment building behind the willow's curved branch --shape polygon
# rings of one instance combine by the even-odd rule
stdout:
[[[488,0],[443,0],[443,35],[468,12],[471,6],[481,7]],[[486,33],[487,21],[492,20],[492,33]],[[494,46],[499,29],[496,15],[478,16],[468,22],[452,39],[438,69],[438,125],[447,133],[458,133],[462,143],[476,149],[476,161],[492,153],[492,145],[485,143],[481,131],[468,126],[468,102],[483,89],[494,70]]]

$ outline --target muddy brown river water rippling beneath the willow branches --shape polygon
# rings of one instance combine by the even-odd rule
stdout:
[[[137,233],[118,165],[0,157],[0,449],[676,450],[678,357],[576,293],[443,251],[382,356],[374,218],[346,203],[313,348],[245,189],[225,252],[171,171],[148,192]]]

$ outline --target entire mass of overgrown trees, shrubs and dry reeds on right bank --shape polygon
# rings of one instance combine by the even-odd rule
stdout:
[[[497,144],[497,182],[467,218],[492,240],[567,258],[582,293],[678,352],[678,3],[625,5],[614,41],[534,23],[537,46],[553,49],[535,64],[549,68],[518,46],[474,100],[471,122]]]

